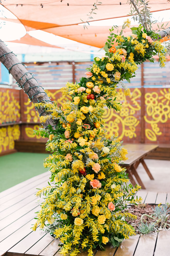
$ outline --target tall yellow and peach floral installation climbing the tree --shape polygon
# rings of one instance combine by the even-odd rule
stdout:
[[[166,50],[153,42],[153,32],[142,30],[142,26],[132,28],[133,34],[127,37],[112,31],[104,47],[106,55],[94,59],[80,83],[68,82],[63,88],[64,94],[72,96],[71,101],[59,108],[55,104],[35,104],[49,113],[41,116],[40,122],[52,118],[55,129],[50,126],[35,131],[49,137],[46,150],[51,155],[44,166],[51,172],[51,182],[36,194],[44,199],[33,230],[40,226],[59,238],[64,256],[75,256],[82,250],[92,256],[98,245],[101,249],[108,242],[119,246],[135,234],[126,219],[136,216],[124,209],[129,203],[141,201],[141,197],[134,199],[140,186],[128,185],[126,169],[121,167],[127,151],[116,133],[110,138],[106,135],[103,108],[119,111],[117,85],[134,77],[138,64],[153,61],[152,55],[159,55],[163,67]],[[114,40],[118,42],[116,47],[112,46]],[[129,89],[124,87],[124,93],[129,95]]]

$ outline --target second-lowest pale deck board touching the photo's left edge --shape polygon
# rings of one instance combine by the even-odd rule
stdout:
[[[15,222],[11,223],[9,226],[2,229],[1,232],[0,232],[0,241],[4,240],[8,236],[10,236],[10,234],[14,233],[16,230],[18,230],[19,228],[24,226],[30,220],[33,220],[36,216],[35,211],[38,210],[38,209],[39,209],[38,207],[33,209],[29,213],[22,216],[20,219],[16,220]],[[35,221],[33,220],[33,223],[34,222]]]

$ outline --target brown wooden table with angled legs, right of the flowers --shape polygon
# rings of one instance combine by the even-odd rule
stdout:
[[[143,167],[145,168],[148,176],[150,179],[154,179],[152,174],[150,173],[150,170],[148,169],[144,158],[151,153],[152,151],[156,150],[158,148],[158,145],[151,145],[151,144],[125,144],[124,148],[128,151],[128,160],[126,160],[123,164],[121,164],[122,167],[125,167],[127,169],[127,173],[129,176],[129,179],[133,186],[136,185],[136,182],[133,178],[133,175],[135,176],[138,184],[141,186],[141,188],[145,189],[145,186],[140,179],[136,168],[141,163]]]

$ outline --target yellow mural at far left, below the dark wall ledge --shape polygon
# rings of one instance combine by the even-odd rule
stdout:
[[[14,149],[14,140],[18,140],[20,136],[19,125],[7,126],[0,128],[0,153]]]

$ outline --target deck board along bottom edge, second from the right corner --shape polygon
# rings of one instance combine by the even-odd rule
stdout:
[[[157,233],[141,235],[134,256],[152,256]]]

